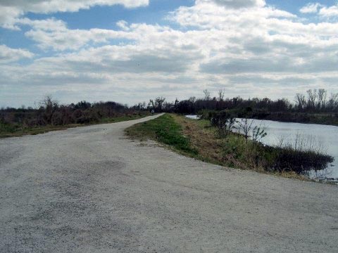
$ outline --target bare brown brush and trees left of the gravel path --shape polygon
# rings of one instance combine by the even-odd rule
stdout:
[[[50,96],[39,102],[37,108],[2,108],[0,126],[60,126],[68,124],[89,124],[105,119],[144,114],[137,108],[128,108],[115,102],[61,105]],[[1,130],[1,129],[0,129]]]

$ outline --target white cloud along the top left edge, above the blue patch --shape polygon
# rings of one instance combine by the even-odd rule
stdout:
[[[123,5],[136,8],[149,5],[149,0],[2,0],[0,2],[0,25],[18,30],[15,22],[21,15],[32,13],[76,12],[93,6]]]

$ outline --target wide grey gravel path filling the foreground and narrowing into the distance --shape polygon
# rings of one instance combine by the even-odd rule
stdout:
[[[154,117],[1,139],[0,252],[338,252],[337,186],[123,136]]]

